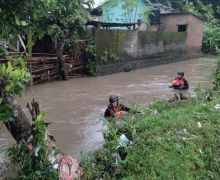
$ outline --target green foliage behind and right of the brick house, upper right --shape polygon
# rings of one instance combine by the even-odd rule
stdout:
[[[220,1],[218,0],[151,0],[180,11],[194,13],[205,19],[205,32],[202,50],[217,54],[220,49]]]

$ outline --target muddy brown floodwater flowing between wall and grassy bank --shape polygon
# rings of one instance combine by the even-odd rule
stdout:
[[[128,73],[36,85],[17,100],[24,109],[33,97],[39,101],[41,110],[46,112],[46,121],[52,122],[49,131],[58,147],[79,158],[81,152],[86,153],[102,145],[103,113],[112,93],[118,94],[126,105],[135,100],[146,106],[155,99],[172,97],[174,90],[168,88],[170,82],[178,70],[183,70],[190,85],[185,93],[193,96],[197,83],[202,86],[211,84],[215,60],[214,57],[204,57]],[[13,143],[3,126],[0,147]]]

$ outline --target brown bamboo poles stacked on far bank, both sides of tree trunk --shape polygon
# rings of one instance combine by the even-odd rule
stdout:
[[[78,51],[77,51],[78,52]],[[12,53],[11,58],[0,58],[1,63],[7,63],[10,60],[16,60],[24,56],[22,53]],[[86,63],[82,54],[77,56],[63,56],[69,77],[86,76]],[[61,77],[61,69],[58,58],[55,54],[33,54],[28,60],[28,69],[33,78],[33,84],[44,83],[59,79]]]

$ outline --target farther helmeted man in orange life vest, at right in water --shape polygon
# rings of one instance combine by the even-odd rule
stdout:
[[[189,88],[188,81],[183,76],[184,76],[184,72],[178,72],[177,77],[175,80],[172,81],[172,86],[170,86],[170,88],[174,88],[178,90],[188,89]]]

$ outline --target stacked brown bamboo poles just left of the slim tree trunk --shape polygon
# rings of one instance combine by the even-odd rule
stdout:
[[[59,64],[55,56],[32,57],[28,61],[33,84],[53,81],[59,78]]]

